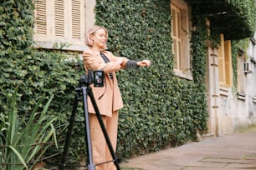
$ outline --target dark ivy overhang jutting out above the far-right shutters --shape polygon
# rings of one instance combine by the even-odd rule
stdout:
[[[210,20],[211,31],[224,33],[229,40],[253,37],[256,27],[255,0],[187,0]]]

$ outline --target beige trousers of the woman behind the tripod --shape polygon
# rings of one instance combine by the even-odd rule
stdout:
[[[104,134],[100,128],[100,123],[96,114],[89,114],[90,117],[90,136],[91,145],[93,153],[94,164],[104,163],[95,167],[95,170],[115,170],[115,164],[105,163],[107,161],[113,160],[110,154],[110,150],[105,141]],[[117,141],[117,128],[118,128],[118,111],[113,112],[112,117],[101,116],[105,124],[106,132],[110,138],[112,147],[116,148]]]

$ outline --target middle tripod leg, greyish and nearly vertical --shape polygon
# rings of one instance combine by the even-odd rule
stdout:
[[[81,87],[83,92],[83,107],[84,107],[84,124],[85,124],[85,140],[87,141],[87,154],[88,154],[88,170],[95,170],[95,165],[93,164],[92,157],[92,148],[90,140],[90,122],[89,122],[89,113],[87,105],[87,87]]]

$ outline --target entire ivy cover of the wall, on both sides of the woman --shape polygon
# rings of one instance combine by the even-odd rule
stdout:
[[[62,50],[33,48],[33,0],[5,0],[0,7],[0,87],[10,94],[18,90],[18,112],[26,118],[42,95],[54,94],[49,114],[58,117],[55,128],[63,151],[65,131],[73,107],[74,88],[84,73],[81,62],[66,60]],[[118,72],[125,107],[120,110],[117,154],[121,159],[175,147],[196,138],[207,129],[204,85],[207,27],[205,18],[193,13],[193,80],[173,73],[171,13],[169,0],[97,0],[96,24],[108,28],[108,47],[116,55],[134,60],[150,59],[151,67]],[[42,106],[44,107],[44,106]],[[83,120],[79,109],[77,120]],[[0,93],[0,114],[8,117]],[[1,123],[1,122],[0,122]],[[69,161],[84,154],[83,123],[74,125]],[[0,151],[1,152],[1,151]],[[59,163],[51,158],[52,164]]]

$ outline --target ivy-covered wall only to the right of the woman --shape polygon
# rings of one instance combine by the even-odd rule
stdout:
[[[153,152],[177,146],[206,130],[204,74],[206,30],[192,35],[194,81],[173,73],[170,1],[97,1],[96,24],[108,28],[109,48],[149,68],[119,72],[125,107],[120,111],[118,154]],[[205,25],[205,18],[200,23]]]

